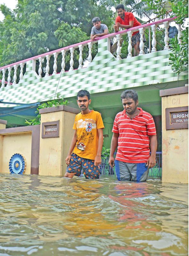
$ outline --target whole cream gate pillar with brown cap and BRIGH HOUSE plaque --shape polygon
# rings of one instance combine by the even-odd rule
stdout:
[[[160,91],[162,181],[188,183],[188,87]]]

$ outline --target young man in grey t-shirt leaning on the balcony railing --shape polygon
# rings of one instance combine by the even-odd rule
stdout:
[[[101,24],[101,21],[98,17],[93,18],[92,20],[94,27],[91,29],[91,39],[94,41],[96,37],[105,36],[109,34],[108,27],[105,24]],[[110,38],[110,45],[112,45],[112,39]]]

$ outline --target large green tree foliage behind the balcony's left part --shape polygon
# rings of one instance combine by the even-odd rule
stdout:
[[[0,11],[0,66],[89,39],[95,16],[113,22],[110,8],[97,0],[18,0],[14,11],[5,4]]]

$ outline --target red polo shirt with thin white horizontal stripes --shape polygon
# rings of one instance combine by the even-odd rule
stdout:
[[[112,132],[119,133],[116,160],[127,163],[146,163],[149,158],[149,136],[156,135],[153,117],[142,108],[133,119],[126,111],[119,112]]]

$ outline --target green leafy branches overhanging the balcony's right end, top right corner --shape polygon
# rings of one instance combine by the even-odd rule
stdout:
[[[160,18],[164,18],[169,11],[171,17],[177,17],[176,23],[184,28],[182,31],[182,44],[178,44],[177,38],[170,40],[170,65],[174,72],[188,72],[188,1],[187,0],[143,0],[147,2],[148,9],[153,10]]]

